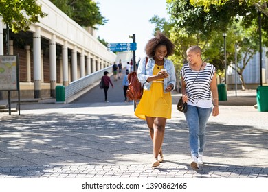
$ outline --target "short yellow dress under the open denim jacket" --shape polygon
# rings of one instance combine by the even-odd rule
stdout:
[[[153,70],[153,74],[157,74],[161,67],[156,67]],[[157,69],[158,68],[158,69]],[[157,80],[163,81],[163,80]],[[140,119],[146,119],[145,117],[164,117],[166,119],[171,118],[172,109],[172,97],[171,93],[164,93],[163,82],[152,82],[150,90],[144,90],[142,99],[139,101],[135,110],[135,115]]]

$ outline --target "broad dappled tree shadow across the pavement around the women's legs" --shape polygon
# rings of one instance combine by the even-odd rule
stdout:
[[[113,114],[55,112],[46,115],[9,116],[0,121],[1,174],[44,176],[49,174],[47,169],[63,171],[61,168],[69,163],[81,166],[150,166],[153,149],[148,128],[145,121],[130,115],[122,117]],[[267,130],[256,130],[252,126],[209,123],[205,149],[208,161],[199,174],[215,176],[219,172],[230,173],[230,167],[236,167],[239,165],[238,161],[241,161],[241,169],[235,169],[234,173],[243,175],[243,170],[261,169],[267,176],[267,164],[262,165],[261,157],[256,162],[254,156],[254,152],[259,150],[267,154],[267,134]],[[188,129],[184,119],[174,118],[168,121],[163,150],[166,163],[163,163],[163,168],[155,171],[186,169],[190,156]],[[173,166],[175,168],[170,169],[169,163],[182,167]],[[164,168],[165,165],[167,168]],[[259,168],[251,165],[259,165]],[[11,169],[17,171],[14,173]],[[62,173],[65,174],[64,171]]]

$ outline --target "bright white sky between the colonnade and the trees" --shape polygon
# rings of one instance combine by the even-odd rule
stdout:
[[[166,0],[96,0],[100,12],[109,20],[98,26],[97,36],[108,43],[132,43],[135,34],[136,59],[145,56],[144,47],[153,38],[155,25],[150,19],[157,15],[168,20]]]

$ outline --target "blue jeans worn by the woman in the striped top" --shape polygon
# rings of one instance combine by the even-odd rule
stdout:
[[[189,127],[189,143],[192,156],[203,154],[205,147],[205,126],[212,112],[212,108],[200,108],[196,106],[187,106],[187,112],[184,113]]]

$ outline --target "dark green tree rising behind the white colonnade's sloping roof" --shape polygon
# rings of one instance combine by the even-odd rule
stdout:
[[[92,0],[51,0],[56,7],[82,27],[104,25],[107,20],[100,14],[98,3]]]

